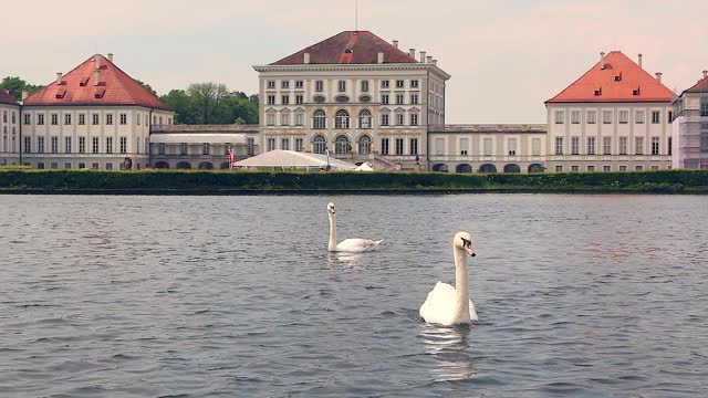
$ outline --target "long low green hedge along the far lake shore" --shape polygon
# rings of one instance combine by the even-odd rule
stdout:
[[[0,190],[533,190],[708,192],[708,170],[490,174],[0,169]]]

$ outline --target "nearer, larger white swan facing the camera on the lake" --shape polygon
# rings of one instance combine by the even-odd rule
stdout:
[[[467,232],[457,232],[452,239],[455,256],[455,287],[438,282],[420,306],[420,317],[431,324],[445,326],[468,324],[477,321],[475,304],[469,300],[467,281],[467,255],[475,256],[472,238]],[[457,287],[457,289],[456,289]]]

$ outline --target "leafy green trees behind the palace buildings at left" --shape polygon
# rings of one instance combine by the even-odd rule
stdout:
[[[157,96],[149,84],[139,80],[135,82]],[[29,84],[17,76],[7,76],[0,82],[2,88],[8,88],[20,100],[22,91],[32,95],[42,86]],[[226,84],[192,83],[186,90],[173,90],[159,98],[175,111],[176,124],[258,124],[258,95],[231,92]]]

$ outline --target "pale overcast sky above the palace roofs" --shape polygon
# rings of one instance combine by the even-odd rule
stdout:
[[[3,1],[0,77],[48,84],[93,53],[159,94],[194,82],[253,94],[268,64],[355,27],[355,0]],[[545,123],[543,102],[622,50],[685,90],[708,69],[708,1],[358,0],[358,29],[452,75],[448,123]]]

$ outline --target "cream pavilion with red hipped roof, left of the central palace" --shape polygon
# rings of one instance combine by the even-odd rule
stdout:
[[[174,113],[113,62],[95,54],[23,101],[22,164],[37,168],[148,167],[150,126]]]

